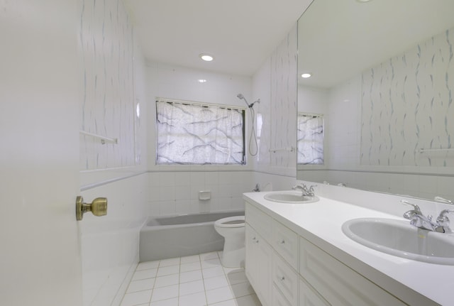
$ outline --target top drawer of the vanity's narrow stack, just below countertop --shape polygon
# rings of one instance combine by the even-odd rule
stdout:
[[[298,271],[299,236],[284,224],[272,223],[272,247],[290,266]]]

